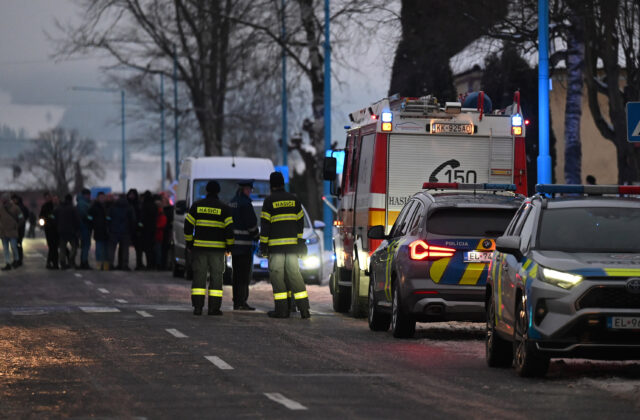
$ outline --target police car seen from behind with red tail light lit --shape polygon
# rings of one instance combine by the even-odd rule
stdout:
[[[369,327],[413,336],[416,321],[483,320],[494,240],[524,200],[515,185],[425,183],[400,211],[369,267]]]

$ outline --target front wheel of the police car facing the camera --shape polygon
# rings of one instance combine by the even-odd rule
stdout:
[[[513,333],[513,364],[522,377],[541,377],[549,370],[549,358],[540,354],[527,338],[529,325],[522,300],[516,306],[516,325]]]

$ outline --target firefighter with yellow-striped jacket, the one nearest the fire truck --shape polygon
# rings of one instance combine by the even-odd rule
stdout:
[[[304,212],[298,198],[284,190],[284,177],[272,172],[271,195],[264,200],[260,215],[260,253],[269,257],[269,279],[275,310],[271,318],[288,318],[288,291],[293,293],[300,316],[309,318],[309,295],[300,274],[298,256],[307,253],[302,238]]]

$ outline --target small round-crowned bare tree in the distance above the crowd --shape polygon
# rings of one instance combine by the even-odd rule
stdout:
[[[54,128],[40,133],[34,143],[18,157],[21,167],[35,178],[33,188],[46,188],[62,196],[78,192],[92,175],[104,176],[95,156],[96,143],[80,138],[76,131]]]

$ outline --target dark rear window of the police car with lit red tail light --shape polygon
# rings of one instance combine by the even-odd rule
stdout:
[[[500,236],[517,209],[443,208],[431,213],[427,231],[436,235]]]

